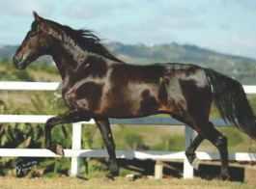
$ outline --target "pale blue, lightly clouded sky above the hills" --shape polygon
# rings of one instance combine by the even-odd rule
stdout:
[[[36,11],[104,41],[178,42],[256,58],[254,0],[1,0],[0,9],[2,45],[19,44]]]

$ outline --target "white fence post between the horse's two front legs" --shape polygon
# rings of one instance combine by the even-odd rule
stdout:
[[[72,150],[81,149],[82,142],[82,123],[72,124]],[[79,174],[79,157],[71,157],[71,176]]]

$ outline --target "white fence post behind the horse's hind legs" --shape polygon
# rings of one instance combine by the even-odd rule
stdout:
[[[192,140],[194,139],[195,132],[185,125],[185,148],[189,147]],[[186,156],[184,158],[184,178],[193,178],[194,169],[193,166],[188,162]]]

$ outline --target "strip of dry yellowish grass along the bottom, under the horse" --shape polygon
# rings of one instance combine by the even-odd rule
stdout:
[[[240,182],[229,182],[219,180],[202,180],[195,178],[192,180],[166,178],[162,180],[141,178],[135,181],[130,181],[127,178],[119,177],[112,181],[106,178],[93,178],[90,180],[82,180],[70,177],[58,178],[14,178],[0,177],[1,189],[215,189],[215,188],[230,188],[230,189],[253,189],[256,185],[249,185]]]

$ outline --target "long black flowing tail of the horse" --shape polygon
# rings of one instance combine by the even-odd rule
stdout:
[[[234,123],[250,138],[256,139],[255,116],[242,85],[213,69],[206,68],[213,99],[224,121]]]

